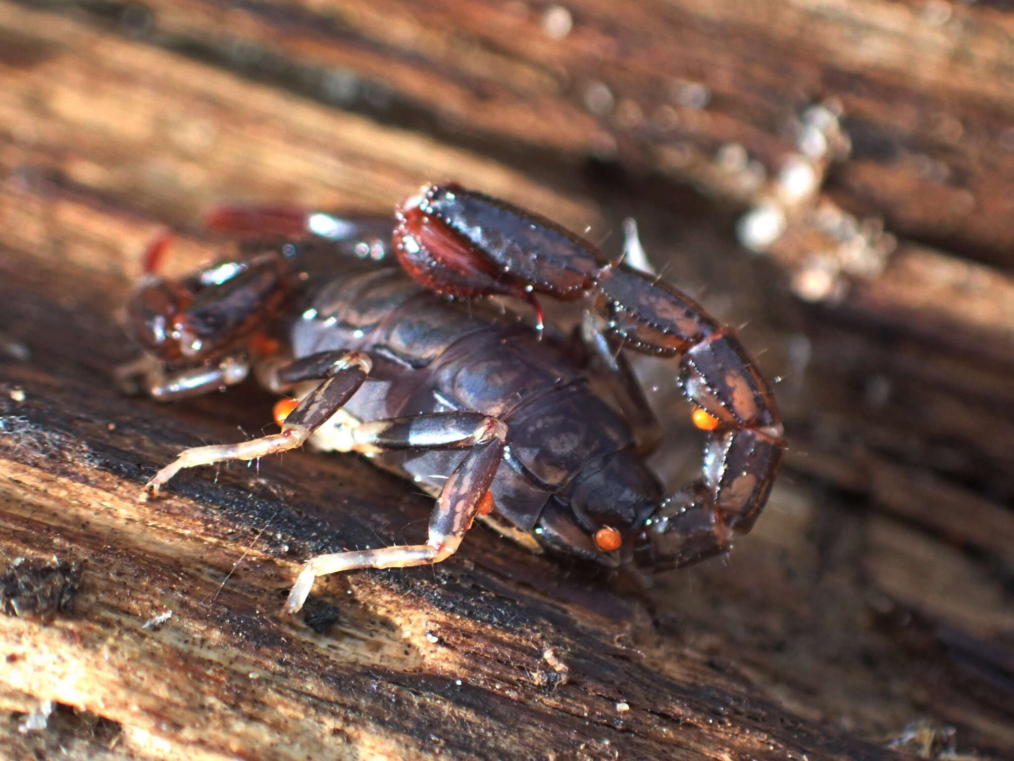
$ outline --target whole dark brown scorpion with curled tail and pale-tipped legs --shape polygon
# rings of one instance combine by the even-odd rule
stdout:
[[[154,274],[166,240],[153,244],[128,307],[146,355],[125,375],[169,400],[252,368],[298,401],[280,404],[281,432],[187,449],[146,490],[184,468],[309,441],[371,453],[436,497],[426,543],[311,558],[287,612],[320,575],[445,560],[477,516],[531,549],[660,570],[726,552],[764,507],[782,423],[733,331],[553,222],[449,184],[399,207],[392,236],[389,219],[286,209],[223,208],[209,221],[287,239],[178,281]],[[391,246],[401,268],[382,266]],[[527,300],[537,330],[438,294]],[[567,338],[541,330],[539,295],[596,304]],[[678,360],[710,431],[701,477],[668,497],[644,464],[658,426],[622,347]]]

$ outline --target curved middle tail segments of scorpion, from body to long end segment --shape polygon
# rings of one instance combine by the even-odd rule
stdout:
[[[685,294],[625,265],[603,267],[595,284],[614,339],[679,357],[694,422],[710,433],[701,480],[659,506],[635,556],[664,568],[724,553],[753,527],[785,451],[774,395],[733,332]]]

